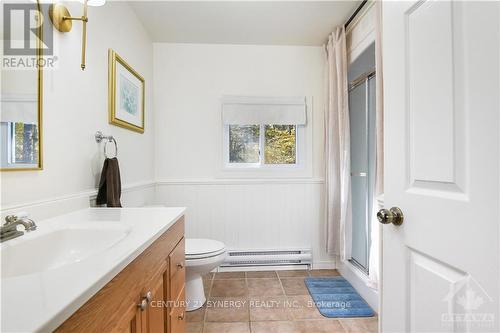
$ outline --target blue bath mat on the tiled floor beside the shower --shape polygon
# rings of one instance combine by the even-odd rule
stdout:
[[[372,317],[373,310],[341,276],[305,279],[319,312],[328,318]]]

